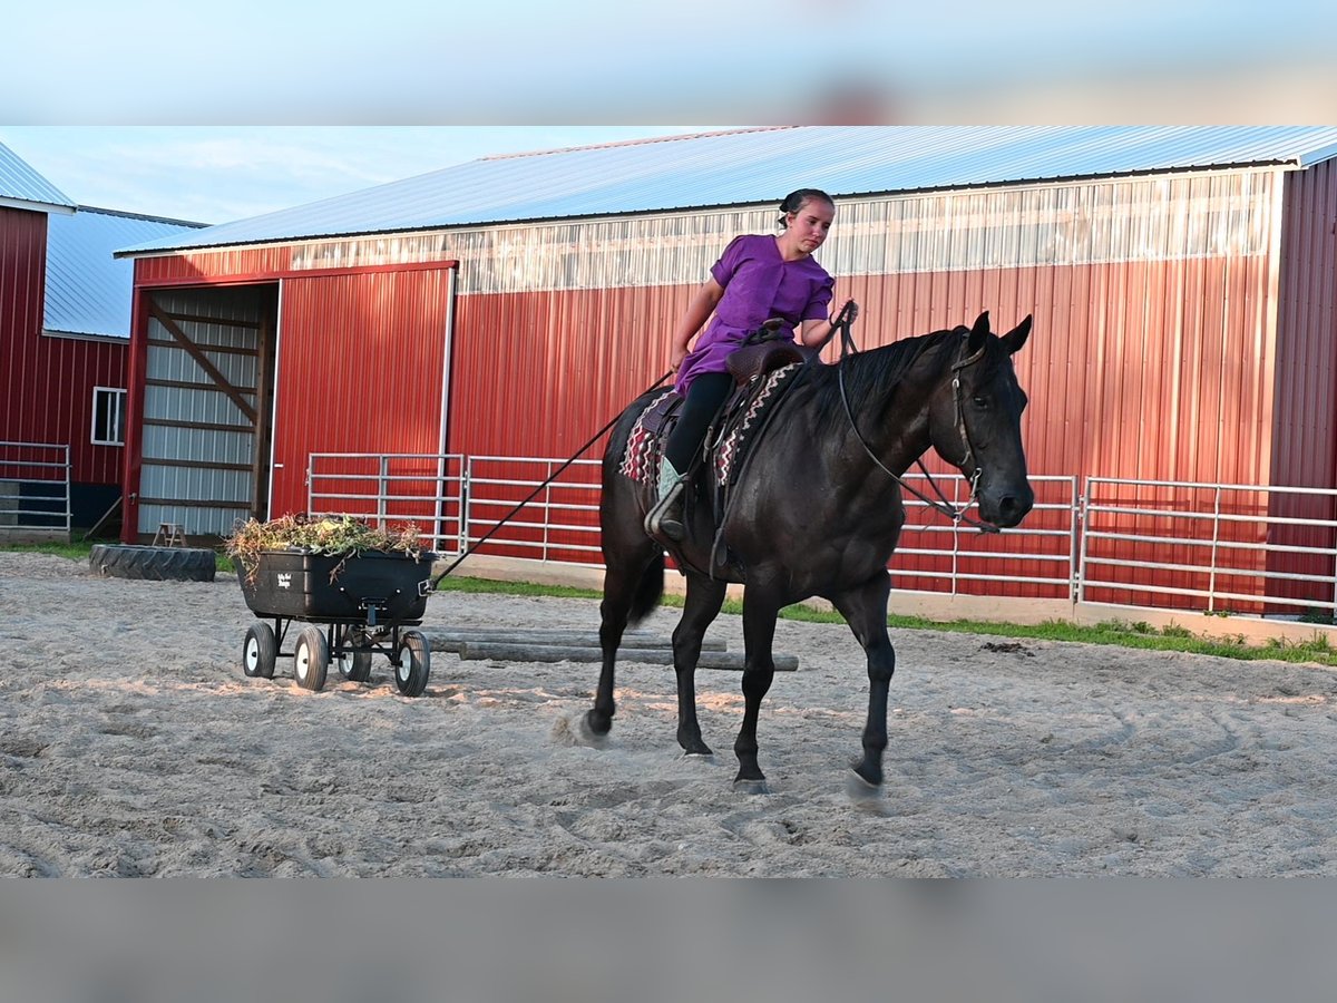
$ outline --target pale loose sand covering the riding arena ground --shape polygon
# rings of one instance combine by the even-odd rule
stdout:
[[[896,631],[888,780],[861,805],[866,677],[842,625],[779,623],[800,669],[762,709],[770,793],[741,794],[737,671],[698,674],[713,758],[678,749],[671,669],[635,663],[591,749],[563,732],[596,665],[437,651],[412,699],[377,657],[370,683],[332,669],[312,693],[287,658],[242,674],[255,622],[235,579],[0,554],[0,875],[1337,875],[1321,666]],[[594,600],[457,594],[424,621],[596,626]],[[742,647],[737,617],[710,637]]]

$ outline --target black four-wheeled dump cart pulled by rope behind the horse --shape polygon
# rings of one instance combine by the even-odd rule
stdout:
[[[340,556],[269,550],[258,559],[254,574],[237,562],[246,604],[262,621],[246,631],[246,675],[273,679],[278,657],[291,655],[297,685],[320,690],[332,661],[345,679],[366,682],[372,655],[380,653],[394,666],[400,693],[422,695],[432,651],[421,631],[405,627],[422,622],[435,554],[361,551]],[[298,633],[291,651],[285,651],[293,621],[312,626]]]

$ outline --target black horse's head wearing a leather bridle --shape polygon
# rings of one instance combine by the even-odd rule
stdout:
[[[1031,333],[1031,318],[999,337],[989,330],[985,310],[969,332],[961,330],[948,380],[933,396],[929,433],[937,455],[975,487],[980,519],[1007,528],[1035,504],[1021,448],[1027,399],[1012,369],[1012,356]]]

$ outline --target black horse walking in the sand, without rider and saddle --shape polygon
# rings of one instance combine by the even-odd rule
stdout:
[[[727,584],[743,583],[745,711],[734,742],[734,785],[766,790],[757,764],[757,717],[775,673],[775,618],[785,606],[822,596],[868,655],[864,756],[853,764],[861,782],[852,792],[880,790],[896,667],[886,634],[886,566],[905,523],[898,477],[933,447],[972,484],[983,523],[993,528],[1021,522],[1035,496],[1021,449],[1027,399],[1012,356],[1029,332],[1027,317],[999,337],[983,313],[973,328],[904,338],[837,365],[809,365],[769,416],[718,526],[710,477],[695,479],[687,538],[675,551],[687,595],[673,634],[678,742],[687,754],[710,754],[697,721],[702,639]],[[655,396],[642,395],[622,413],[603,460],[603,670],[594,707],[578,722],[592,742],[612,726],[614,663],[623,631],[650,614],[663,591],[663,548],[642,528],[646,488],[622,472],[628,436]]]

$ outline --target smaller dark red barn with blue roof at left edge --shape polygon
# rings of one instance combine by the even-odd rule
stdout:
[[[76,206],[0,144],[0,528],[9,535],[91,527],[120,496],[134,274],[112,251],[195,226]]]

